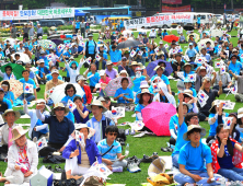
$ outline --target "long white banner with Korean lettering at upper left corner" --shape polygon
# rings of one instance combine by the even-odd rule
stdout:
[[[74,8],[0,11],[0,20],[73,18]]]

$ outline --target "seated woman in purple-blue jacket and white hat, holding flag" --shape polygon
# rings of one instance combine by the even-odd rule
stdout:
[[[99,163],[102,163],[102,156],[95,142],[89,139],[90,127],[86,124],[78,124],[76,130],[83,133],[85,147],[83,148],[76,139],[66,146],[62,156],[66,159],[65,170],[68,179],[73,178],[73,175],[85,174],[96,159]]]

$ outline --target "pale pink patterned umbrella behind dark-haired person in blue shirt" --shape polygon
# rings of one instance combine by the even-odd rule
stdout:
[[[104,90],[107,96],[114,96],[116,93],[116,90],[121,88],[121,83],[120,83],[121,79],[123,77],[119,77],[108,82],[107,86]],[[128,81],[129,81],[128,88],[130,89],[134,85],[134,83],[130,78],[128,78]]]

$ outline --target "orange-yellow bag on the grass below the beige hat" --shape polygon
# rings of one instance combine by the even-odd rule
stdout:
[[[147,177],[147,181],[153,186],[165,186],[173,183],[173,177],[169,176],[165,173],[158,174],[157,176]]]

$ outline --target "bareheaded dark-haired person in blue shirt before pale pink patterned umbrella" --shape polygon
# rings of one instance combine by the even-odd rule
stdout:
[[[121,88],[116,90],[116,93],[114,95],[114,101],[117,101],[117,103],[123,103],[123,104],[129,104],[134,102],[134,93],[132,91],[128,88],[129,80],[128,78],[123,78],[121,81]]]

